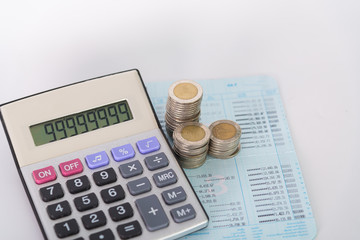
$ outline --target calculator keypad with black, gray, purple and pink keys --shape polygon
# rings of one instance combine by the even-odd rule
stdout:
[[[134,145],[136,148],[125,144],[58,164],[60,177],[65,178],[62,181],[65,189],[60,183],[39,189],[42,201],[50,202],[46,211],[48,218],[54,221],[58,238],[82,239],[83,232],[81,237],[76,234],[87,229],[91,232],[83,239],[116,239],[114,233],[121,239],[129,239],[146,230],[156,232],[169,228],[171,221],[178,224],[196,217],[191,204],[179,206],[186,201],[187,194],[183,187],[176,185],[178,176],[168,167],[170,162],[166,154],[155,152],[161,147],[157,138],[146,138]],[[135,150],[140,153],[138,158],[135,158]],[[151,155],[152,152],[155,153]],[[118,164],[110,164],[110,161]],[[84,169],[82,162],[90,170]],[[33,171],[35,183],[56,180],[54,167]],[[152,192],[154,188],[158,189],[158,195]],[[66,200],[64,196],[67,196]],[[129,198],[133,200],[129,201]],[[171,206],[171,209],[165,210],[164,206]],[[72,208],[77,212],[76,216]],[[117,223],[116,228],[109,228],[108,222]]]

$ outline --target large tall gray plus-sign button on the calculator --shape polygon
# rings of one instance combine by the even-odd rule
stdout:
[[[146,228],[150,232],[165,228],[169,225],[169,219],[159,199],[155,195],[140,198],[135,201],[135,204],[144,220]]]

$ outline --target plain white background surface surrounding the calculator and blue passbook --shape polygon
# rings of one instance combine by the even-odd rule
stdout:
[[[1,1],[0,103],[138,68],[278,80],[317,239],[358,239],[359,1]],[[25,117],[25,116],[24,116]],[[0,236],[42,235],[0,130]]]

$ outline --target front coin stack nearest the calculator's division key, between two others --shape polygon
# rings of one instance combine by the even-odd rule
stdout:
[[[174,152],[184,168],[204,164],[210,142],[210,130],[202,123],[188,122],[178,126],[174,133]]]

